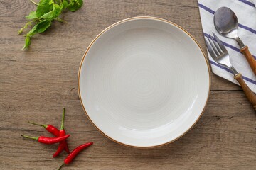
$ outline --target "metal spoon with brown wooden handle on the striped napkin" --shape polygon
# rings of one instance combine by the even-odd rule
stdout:
[[[240,46],[240,52],[245,55],[252,71],[256,75],[256,60],[252,57],[248,47],[238,37],[238,18],[235,13],[227,7],[218,8],[214,14],[214,26],[220,35],[226,38],[233,38]]]

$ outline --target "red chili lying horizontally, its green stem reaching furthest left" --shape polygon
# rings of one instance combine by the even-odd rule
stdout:
[[[22,137],[26,137],[32,140],[37,140],[38,142],[44,143],[44,144],[55,144],[58,142],[61,142],[63,140],[66,140],[70,135],[65,135],[63,137],[45,137],[45,136],[40,136],[40,137],[30,137],[26,135],[21,135]]]

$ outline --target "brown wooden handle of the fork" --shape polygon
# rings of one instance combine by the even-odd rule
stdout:
[[[242,74],[239,73],[238,75],[234,76],[234,78],[238,81],[242,87],[242,90],[245,92],[245,96],[248,98],[250,103],[252,103],[252,106],[256,111],[256,95],[251,91],[247,84],[245,84],[245,81],[242,79]]]

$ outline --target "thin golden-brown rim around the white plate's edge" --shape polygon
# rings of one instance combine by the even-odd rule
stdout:
[[[207,97],[207,100],[206,100],[206,104],[205,106],[203,107],[203,111],[201,112],[200,116],[198,117],[198,119],[196,120],[196,122],[188,129],[186,130],[186,132],[183,132],[182,135],[180,135],[179,137],[176,137],[176,139],[174,140],[171,140],[169,142],[166,142],[164,144],[161,144],[161,145],[155,145],[155,146],[150,146],[150,147],[138,147],[138,146],[133,146],[133,145],[127,145],[127,144],[124,144],[122,142],[118,142],[117,140],[114,140],[112,139],[111,137],[109,137],[108,135],[106,135],[104,132],[102,132],[100,130],[100,128],[97,128],[97,125],[95,125],[95,123],[92,122],[92,120],[90,119],[90,116],[87,114],[86,110],[85,110],[85,106],[83,105],[82,103],[82,99],[81,99],[81,95],[80,95],[80,72],[81,72],[81,67],[82,67],[82,63],[84,62],[85,60],[85,56],[87,55],[87,52],[90,50],[90,47],[93,45],[93,43],[100,37],[100,35],[102,35],[103,33],[105,33],[107,30],[110,30],[110,28],[113,28],[114,26],[117,26],[118,24],[120,23],[124,23],[124,22],[127,22],[127,21],[132,21],[132,20],[137,20],[137,19],[151,19],[151,20],[157,20],[157,21],[163,21],[163,22],[166,22],[166,23],[169,23],[173,26],[176,26],[178,28],[180,28],[181,30],[183,30],[184,33],[186,33],[189,37],[191,37],[194,42],[196,42],[196,44],[198,45],[198,47],[200,48],[201,52],[203,53],[203,57],[205,58],[206,60],[206,64],[207,64],[207,67],[208,67],[208,74],[209,74],[209,89],[208,89],[208,97]],[[176,23],[172,23],[171,21],[167,21],[165,19],[162,19],[162,18],[157,18],[157,17],[153,17],[153,16],[136,16],[136,17],[132,17],[132,18],[127,18],[127,19],[124,19],[124,20],[121,20],[121,21],[118,21],[117,23],[113,23],[111,26],[108,26],[107,28],[105,28],[105,30],[102,30],[102,32],[100,34],[98,34],[96,36],[96,38],[94,40],[92,40],[92,42],[90,43],[90,45],[87,47],[87,50],[85,51],[85,54],[82,56],[82,60],[80,62],[80,66],[79,66],[79,70],[78,70],[78,95],[79,95],[79,98],[80,98],[80,103],[82,105],[82,108],[83,110],[85,111],[85,115],[87,115],[87,118],[90,120],[90,123],[92,123],[92,125],[95,126],[95,128],[97,130],[99,130],[102,135],[104,135],[105,137],[107,137],[108,139],[120,144],[120,145],[124,145],[124,146],[127,146],[127,147],[133,147],[133,148],[140,148],[140,149],[148,149],[148,148],[154,148],[154,147],[161,147],[161,146],[164,146],[164,145],[167,145],[171,142],[174,142],[176,140],[178,140],[179,138],[183,137],[183,135],[185,135],[189,130],[191,130],[191,128],[193,128],[193,126],[198,122],[198,120],[201,118],[201,116],[203,115],[203,112],[206,110],[206,105],[208,103],[208,99],[209,99],[209,96],[210,96],[210,67],[209,67],[209,64],[208,64],[208,60],[207,60],[207,57],[205,55],[205,53],[203,52],[202,50],[202,47],[198,44],[198,42],[196,41],[195,38],[193,38],[193,36],[188,33],[188,31],[186,31],[184,28],[182,28],[181,26],[178,26]]]

